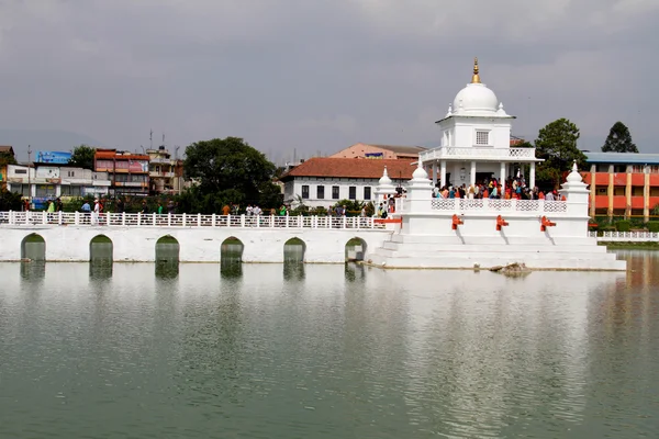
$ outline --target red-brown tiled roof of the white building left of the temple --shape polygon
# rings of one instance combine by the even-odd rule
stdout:
[[[389,178],[412,178],[415,160],[405,159],[368,159],[368,158],[331,158],[314,157],[291,169],[280,180],[287,181],[292,177],[336,177],[336,178],[368,178],[379,179],[382,177],[384,167]]]

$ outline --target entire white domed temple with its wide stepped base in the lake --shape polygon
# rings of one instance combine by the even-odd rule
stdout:
[[[510,172],[525,165],[533,188],[535,164],[541,160],[534,148],[510,146],[513,119],[480,82],[474,64],[471,83],[437,122],[440,146],[420,154],[406,196],[396,199],[388,219],[392,235],[369,252],[368,262],[384,268],[487,269],[517,262],[545,270],[626,270],[625,261],[588,235],[589,190],[576,164],[556,201],[433,196],[437,179],[445,185],[449,175],[454,185],[492,175],[503,185]],[[380,183],[378,202],[391,192],[386,172]]]

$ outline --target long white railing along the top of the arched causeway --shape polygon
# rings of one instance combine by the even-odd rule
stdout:
[[[155,213],[0,212],[0,225],[93,225],[129,227],[384,228],[375,217],[202,215]]]

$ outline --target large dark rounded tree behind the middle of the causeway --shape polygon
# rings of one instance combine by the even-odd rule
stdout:
[[[182,199],[191,213],[221,212],[226,203],[278,207],[273,203],[275,194],[280,193],[272,183],[275,171],[275,165],[242,138],[197,142],[186,149],[183,172],[199,184]]]

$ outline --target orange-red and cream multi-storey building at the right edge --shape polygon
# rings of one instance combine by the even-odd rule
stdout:
[[[590,215],[650,218],[659,205],[659,154],[583,153]]]

